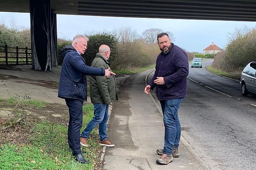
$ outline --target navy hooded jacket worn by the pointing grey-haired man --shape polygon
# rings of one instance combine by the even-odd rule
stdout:
[[[71,45],[61,49],[63,63],[59,81],[58,97],[87,101],[87,82],[85,75],[104,76],[105,70],[85,65],[85,60]]]

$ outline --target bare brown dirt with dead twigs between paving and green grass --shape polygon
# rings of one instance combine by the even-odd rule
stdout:
[[[9,106],[1,101],[0,108],[5,115],[0,116],[0,143],[24,144],[29,135],[41,121],[58,123],[67,126],[69,114],[66,105],[48,104],[45,108],[38,109],[24,104]],[[61,115],[61,116],[54,116]]]

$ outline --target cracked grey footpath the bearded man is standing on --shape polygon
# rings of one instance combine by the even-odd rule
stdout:
[[[180,157],[168,165],[158,165],[156,150],[163,148],[163,116],[151,98],[144,94],[149,71],[132,75],[119,87],[119,100],[113,102],[103,170],[201,170],[201,166],[180,142]]]

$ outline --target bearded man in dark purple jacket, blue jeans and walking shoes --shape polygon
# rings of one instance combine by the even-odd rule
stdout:
[[[165,127],[164,147],[157,149],[157,153],[161,155],[157,159],[157,164],[168,164],[173,161],[173,157],[180,156],[178,147],[181,130],[178,109],[187,94],[186,77],[189,74],[189,62],[185,51],[174,45],[168,34],[158,34],[157,42],[162,52],[157,57],[154,76],[144,91],[148,94],[156,88]]]

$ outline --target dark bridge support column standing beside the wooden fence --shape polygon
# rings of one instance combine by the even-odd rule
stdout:
[[[52,66],[58,66],[56,14],[50,0],[30,0],[29,8],[32,68],[52,71]]]

